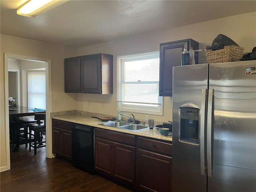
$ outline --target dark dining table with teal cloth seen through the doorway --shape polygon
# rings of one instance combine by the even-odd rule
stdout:
[[[19,151],[20,148],[20,120],[19,117],[24,117],[24,116],[34,116],[35,113],[45,113],[46,110],[44,109],[38,109],[38,108],[29,108],[26,106],[20,106],[17,109],[9,109],[9,118],[13,119],[16,122],[16,140],[15,140],[15,147],[12,150],[13,152]]]

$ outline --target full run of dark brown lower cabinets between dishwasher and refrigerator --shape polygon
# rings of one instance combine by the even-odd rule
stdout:
[[[94,130],[94,168],[100,175],[139,192],[172,191],[170,142]]]

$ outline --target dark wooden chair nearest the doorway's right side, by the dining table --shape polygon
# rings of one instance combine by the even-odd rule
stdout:
[[[29,129],[29,151],[31,151],[31,147],[34,148],[34,155],[36,155],[36,149],[45,147],[46,141],[43,141],[42,134],[46,131],[45,121],[46,121],[46,114],[45,113],[36,113],[35,120],[37,120],[37,124],[30,125]],[[43,123],[40,123],[43,121]],[[32,139],[32,131],[34,132],[34,139]]]

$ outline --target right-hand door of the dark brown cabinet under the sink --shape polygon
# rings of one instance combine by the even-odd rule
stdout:
[[[113,177],[118,182],[135,186],[135,147],[114,142]]]

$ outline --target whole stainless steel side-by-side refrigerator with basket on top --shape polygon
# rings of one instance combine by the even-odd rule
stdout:
[[[256,60],[173,68],[173,192],[256,192]]]

